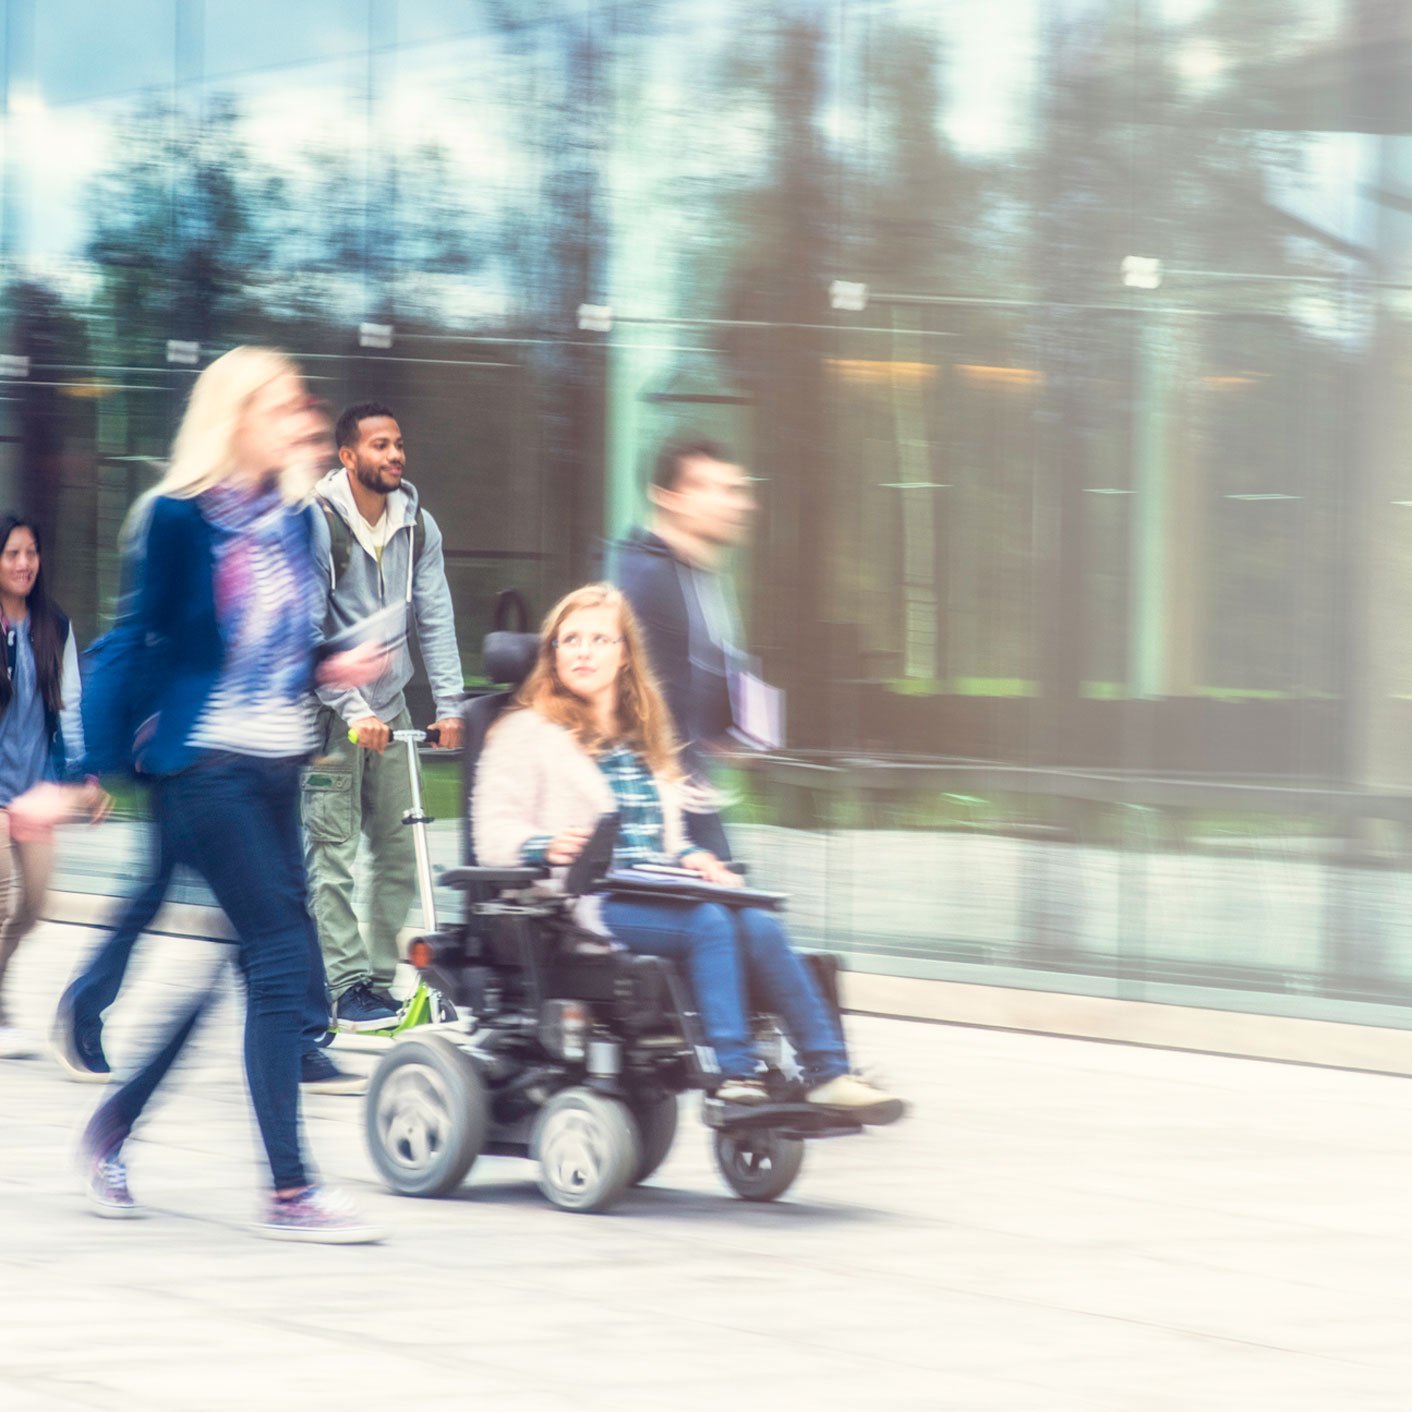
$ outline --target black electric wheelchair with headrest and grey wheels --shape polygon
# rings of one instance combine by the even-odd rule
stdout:
[[[537,887],[548,875],[542,868],[476,864],[476,765],[537,650],[537,635],[522,630],[486,638],[486,676],[507,689],[465,707],[467,861],[441,874],[442,885],[462,892],[465,918],[408,952],[424,983],[445,997],[441,1012],[455,1018],[398,1038],[373,1073],[364,1124],[374,1166],[404,1196],[443,1196],[481,1155],[528,1156],[555,1206],[602,1211],[661,1165],[676,1134],[678,1097],[699,1090],[726,1183],[746,1200],[774,1200],[798,1176],[808,1139],[861,1132],[863,1123],[802,1101],[789,1076],[792,1051],[764,1014],[754,1022],[771,1101],[710,1096],[720,1075],[685,977],[573,921],[573,898],[623,885],[609,871],[616,819],[600,820],[562,892]],[[647,885],[700,895],[681,881]],[[812,955],[808,963],[837,1015],[836,960]]]

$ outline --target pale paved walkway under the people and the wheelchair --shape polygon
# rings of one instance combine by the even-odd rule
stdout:
[[[42,1027],[93,932],[13,969]],[[219,955],[157,939],[116,1051]],[[1406,1080],[857,1018],[905,1124],[818,1144],[774,1206],[726,1195],[683,1115],[614,1213],[569,1216],[527,1163],[455,1200],[373,1176],[357,1099],[306,1104],[380,1247],[251,1237],[258,1171],[234,997],[133,1144],[144,1221],[69,1168],[96,1090],[0,1065],[4,1412],[1406,1412]],[[349,1055],[367,1066],[370,1056]]]

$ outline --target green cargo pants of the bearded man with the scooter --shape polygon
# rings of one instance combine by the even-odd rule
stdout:
[[[393,730],[409,730],[404,707]],[[359,981],[384,990],[397,970],[397,933],[417,895],[417,853],[402,813],[412,806],[407,746],[394,741],[378,755],[349,740],[342,716],[319,710],[319,757],[304,772],[304,860],[309,909],[329,991],[337,1000]],[[353,912],[353,864],[359,837],[367,840],[367,940]]]

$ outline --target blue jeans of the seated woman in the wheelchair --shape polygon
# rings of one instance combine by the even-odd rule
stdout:
[[[748,1077],[757,1069],[747,980],[779,1017],[805,1083],[813,1087],[849,1072],[833,1011],[774,912],[607,897],[603,923],[630,950],[686,962],[706,1039],[727,1079]]]

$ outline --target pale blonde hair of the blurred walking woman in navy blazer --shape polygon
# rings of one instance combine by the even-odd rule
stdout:
[[[154,487],[155,494],[189,500],[226,480],[236,469],[236,433],[250,400],[285,374],[299,377],[291,357],[278,349],[253,346],[234,347],[205,369],[191,390],[171,465]],[[280,467],[280,490],[291,504],[305,498],[306,477],[298,466]]]

